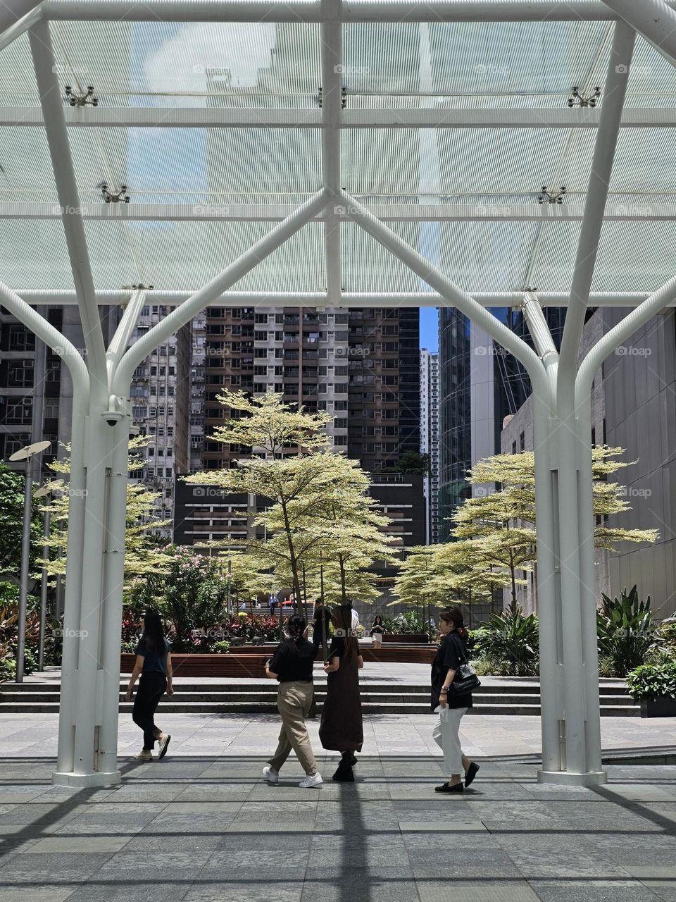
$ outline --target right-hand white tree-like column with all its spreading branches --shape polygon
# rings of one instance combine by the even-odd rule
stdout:
[[[676,296],[676,279],[632,311],[579,364],[580,338],[603,224],[635,32],[618,22],[592,161],[585,215],[557,352],[544,313],[525,292],[523,311],[536,351],[343,192],[346,216],[514,354],[534,393],[537,593],[540,615],[542,782],[604,782],[598,704],[598,649],[592,516],[591,382],[607,354]]]

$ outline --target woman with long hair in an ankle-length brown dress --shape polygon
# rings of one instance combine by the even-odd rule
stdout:
[[[359,691],[359,671],[364,660],[359,653],[359,642],[352,636],[352,605],[334,607],[331,621],[333,640],[324,663],[326,701],[319,739],[324,749],[343,754],[333,779],[352,783],[352,768],[357,763],[354,753],[361,751],[364,741]]]

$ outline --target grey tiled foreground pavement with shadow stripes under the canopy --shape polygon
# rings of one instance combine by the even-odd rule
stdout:
[[[321,789],[295,759],[278,787],[259,757],[168,756],[79,791],[50,786],[53,763],[0,764],[0,902],[676,900],[676,768],[611,767],[594,790],[486,761],[440,796],[422,756]]]

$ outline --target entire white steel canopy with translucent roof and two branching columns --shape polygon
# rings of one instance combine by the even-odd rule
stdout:
[[[55,782],[120,778],[130,382],[217,299],[454,306],[524,364],[539,776],[605,779],[589,396],[607,354],[676,301],[673,6],[23,0],[15,19],[3,7],[0,301],[59,349],[75,391]],[[145,294],[132,284],[174,309],[128,347]],[[78,305],[84,351],[39,304]],[[124,307],[107,348],[101,304]],[[523,308],[534,349],[496,304]],[[560,350],[545,305],[568,308]],[[579,361],[585,314],[604,305],[631,312]]]

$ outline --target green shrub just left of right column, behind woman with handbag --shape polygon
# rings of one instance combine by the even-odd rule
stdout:
[[[474,654],[486,658],[502,676],[535,676],[540,646],[537,617],[520,609],[491,614],[474,632]]]

